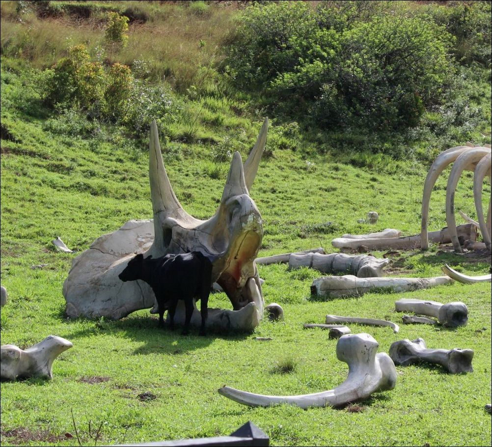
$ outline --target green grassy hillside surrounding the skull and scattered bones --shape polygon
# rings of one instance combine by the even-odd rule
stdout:
[[[285,319],[263,321],[253,334],[203,338],[193,332],[183,337],[158,330],[157,319],[146,310],[119,321],[65,317],[62,284],[72,259],[127,220],[152,216],[147,137],[146,131],[134,135],[124,125],[93,120],[80,110],[54,110],[31,81],[40,69],[66,56],[66,37],[72,44],[85,42],[91,54],[104,46],[105,66],[123,62],[135,70],[135,58],[152,61],[147,77],[140,79],[151,83],[164,74],[176,105],[172,119],[161,126],[167,172],[186,211],[208,218],[222,193],[231,152],[247,155],[269,109],[218,77],[219,47],[232,38],[236,5],[196,3],[205,6],[50,2],[60,11],[43,15],[28,3],[19,21],[16,2],[1,2],[0,265],[1,284],[9,293],[1,311],[1,343],[24,348],[53,334],[74,344],[54,363],[52,381],[1,383],[1,444],[76,446],[73,414],[82,445],[226,435],[246,420],[279,446],[490,445],[490,415],[483,410],[491,396],[490,284],[319,301],[309,295],[318,273],[259,266],[265,300],[282,305]],[[103,42],[108,8],[128,16],[127,9],[134,9],[126,49]],[[490,78],[473,79],[467,88],[482,92],[474,104],[489,111],[480,138],[490,142]],[[421,159],[439,152],[441,145],[455,144],[446,135],[463,136],[461,130],[448,130],[419,134],[415,145]],[[475,128],[470,131],[477,135]],[[251,190],[264,220],[260,255],[318,246],[334,252],[331,240],[348,232],[420,231],[428,162],[396,160],[385,151],[360,152],[367,137],[356,131],[338,138],[323,134],[318,140],[313,138],[317,132],[302,123],[273,120]],[[387,144],[404,147],[401,139]],[[456,209],[475,217],[472,181],[472,174],[463,175]],[[432,230],[445,226],[446,182],[444,175],[432,195]],[[487,182],[484,206],[490,193]],[[358,224],[371,210],[379,213],[378,223]],[[56,236],[76,253],[57,252],[51,244]],[[485,274],[491,265],[490,255],[457,255],[436,245],[426,253],[400,253],[393,259],[388,270],[405,277],[439,276],[445,262],[470,275]],[[31,269],[37,264],[47,266]],[[336,359],[336,342],[325,331],[304,330],[302,323],[324,322],[326,314],[400,323],[394,302],[404,297],[464,301],[468,325],[401,325],[399,334],[353,325],[352,331],[370,333],[385,352],[394,341],[417,337],[430,348],[471,348],[473,373],[453,376],[439,367],[398,367],[393,391],[340,410],[249,409],[216,392],[224,384],[264,394],[336,387],[347,374],[346,365]],[[210,305],[230,306],[220,293],[211,295]],[[262,343],[255,337],[273,340]],[[281,374],[277,365],[292,372]],[[155,399],[139,397],[145,392]]]

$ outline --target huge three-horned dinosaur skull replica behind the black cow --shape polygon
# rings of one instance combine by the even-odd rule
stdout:
[[[207,327],[256,327],[263,314],[263,295],[254,259],[263,224],[249,190],[265,148],[267,128],[265,120],[244,165],[238,152],[233,155],[220,205],[212,218],[200,221],[184,211],[176,198],[153,122],[149,175],[154,219],[128,221],[119,230],[96,239],[89,250],[73,260],[63,284],[67,315],[121,319],[133,311],[151,308],[155,301],[151,287],[143,281],[123,283],[118,278],[128,261],[138,253],[156,258],[199,251],[212,260],[212,280],[222,287],[233,306],[232,311],[209,309]],[[178,323],[179,309],[175,315]],[[196,311],[193,315],[200,314]]]

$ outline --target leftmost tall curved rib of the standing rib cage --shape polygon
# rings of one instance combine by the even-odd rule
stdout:
[[[468,143],[467,143],[468,144]],[[471,144],[471,143],[470,143]],[[473,145],[472,145],[473,147]],[[420,247],[422,250],[429,250],[429,236],[427,234],[427,224],[429,222],[429,202],[431,201],[432,188],[441,172],[453,161],[455,161],[464,151],[469,151],[470,146],[457,146],[441,152],[429,169],[424,183],[422,195],[422,223],[420,230]]]

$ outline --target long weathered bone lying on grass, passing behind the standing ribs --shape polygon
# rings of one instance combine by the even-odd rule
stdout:
[[[476,240],[477,230],[473,224],[462,224],[457,227],[458,238],[464,243],[466,240]],[[436,244],[447,244],[451,242],[451,234],[448,228],[440,231],[432,231],[428,235],[429,240]],[[332,245],[338,249],[357,250],[359,247],[366,247],[369,250],[400,249],[412,250],[421,245],[420,234],[406,237],[385,237],[385,238],[346,238],[339,237],[332,240]]]

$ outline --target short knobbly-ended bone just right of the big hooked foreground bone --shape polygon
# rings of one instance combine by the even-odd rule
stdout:
[[[452,350],[427,349],[423,339],[400,340],[390,346],[390,357],[395,365],[408,366],[426,362],[444,367],[451,374],[471,373],[473,351],[471,349]]]

